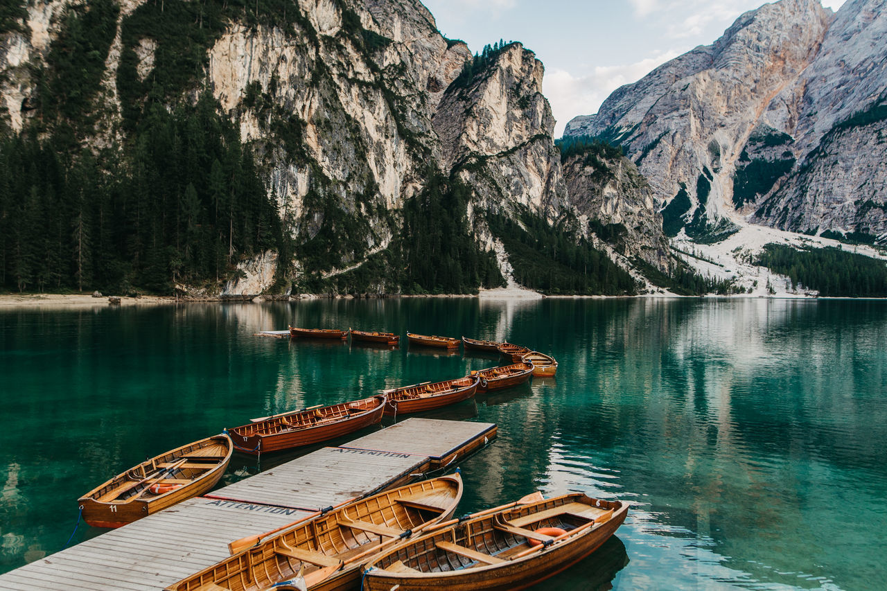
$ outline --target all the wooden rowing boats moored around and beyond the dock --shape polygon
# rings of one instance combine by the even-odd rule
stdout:
[[[396,344],[392,333],[290,327],[294,337]],[[381,422],[455,404],[476,392],[507,388],[530,375],[552,376],[557,361],[514,343],[407,333],[411,344],[498,352],[510,363],[443,382],[251,420],[178,447],[123,472],[80,499],[83,519],[118,527],[207,493],[232,453],[268,453],[312,445]],[[591,554],[623,523],[627,505],[581,493],[521,500],[451,519],[462,495],[459,474],[350,501],[272,532],[234,540],[232,556],[167,587],[175,591],[357,588],[518,589]]]

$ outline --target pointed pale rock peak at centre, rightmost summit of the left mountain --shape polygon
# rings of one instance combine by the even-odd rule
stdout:
[[[511,43],[444,93],[434,116],[443,168],[474,187],[475,207],[508,213],[521,206],[549,220],[569,210],[543,74],[532,51]]]

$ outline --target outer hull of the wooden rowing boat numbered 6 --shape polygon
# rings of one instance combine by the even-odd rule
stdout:
[[[575,539],[562,540],[549,548],[544,548],[529,556],[506,559],[502,563],[448,570],[442,572],[401,573],[384,571],[378,568],[394,560],[401,559],[407,562],[411,548],[422,548],[428,543],[434,544],[437,539],[444,539],[450,530],[445,533],[428,534],[412,543],[404,545],[400,552],[389,551],[385,555],[377,556],[373,563],[367,565],[364,577],[364,588],[368,591],[389,591],[397,588],[398,591],[430,591],[431,589],[447,589],[448,591],[510,591],[512,589],[525,589],[538,585],[539,582],[553,577],[561,571],[590,556],[596,549],[616,532],[616,529],[624,522],[627,506],[624,503],[611,503],[620,505],[613,515],[589,532],[577,535]],[[470,522],[469,522],[470,523]],[[456,535],[451,535],[452,540],[457,540]],[[461,541],[461,540],[458,540]],[[394,556],[394,558],[389,558]],[[372,570],[369,570],[371,569]]]

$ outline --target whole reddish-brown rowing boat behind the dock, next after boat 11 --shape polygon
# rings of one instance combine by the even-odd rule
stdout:
[[[385,401],[384,396],[373,396],[338,405],[275,414],[228,429],[228,433],[240,452],[279,452],[347,435],[381,422]]]

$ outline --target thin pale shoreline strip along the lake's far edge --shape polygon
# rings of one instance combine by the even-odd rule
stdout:
[[[510,290],[509,290],[510,291]],[[350,295],[345,296],[318,296],[315,294],[302,294],[299,296],[293,296],[288,300],[281,299],[271,299],[265,300],[262,296],[255,296],[253,299],[239,299],[237,296],[232,298],[220,298],[220,297],[207,297],[207,298],[195,298],[195,297],[176,297],[176,296],[139,296],[139,297],[128,297],[128,296],[120,296],[120,305],[121,306],[145,306],[145,305],[168,305],[168,304],[177,304],[177,303],[266,303],[266,302],[300,302],[305,300],[318,300],[318,299],[393,299],[393,298],[476,298],[480,301],[491,302],[491,301],[521,301],[521,302],[539,302],[544,299],[556,299],[556,300],[566,300],[566,299],[686,299],[686,298],[703,298],[703,299],[737,299],[737,298],[745,298],[745,299],[769,299],[769,300],[874,300],[874,301],[883,301],[887,298],[883,297],[819,297],[819,296],[805,296],[803,294],[798,295],[787,295],[780,294],[778,296],[750,296],[748,294],[735,294],[732,296],[678,296],[676,294],[640,294],[637,296],[543,296],[541,294],[536,294],[536,292],[530,292],[532,294],[536,294],[535,296],[528,296],[528,290],[521,290],[522,293],[506,293],[505,291],[501,293],[483,293],[483,291],[479,294],[431,294],[431,295],[387,295],[387,296],[369,296],[369,297],[355,297]],[[39,308],[39,307],[55,307],[55,306],[66,306],[66,307],[75,307],[75,308],[96,308],[96,307],[113,307],[114,304],[108,302],[108,298],[106,296],[102,297],[93,297],[89,294],[0,294],[0,310],[8,309],[8,308],[17,308],[17,307],[27,307],[27,308]]]

